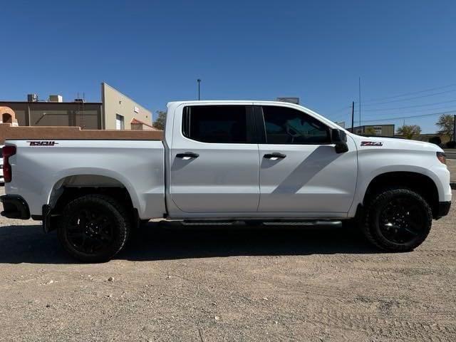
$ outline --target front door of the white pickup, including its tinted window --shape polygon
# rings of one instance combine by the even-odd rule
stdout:
[[[331,128],[296,108],[263,105],[257,121],[264,132],[259,145],[259,212],[291,212],[318,217],[343,216],[356,187],[356,146],[337,153]]]

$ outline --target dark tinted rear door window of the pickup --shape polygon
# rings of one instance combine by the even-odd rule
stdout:
[[[182,133],[201,142],[247,143],[244,105],[193,105],[184,108]]]

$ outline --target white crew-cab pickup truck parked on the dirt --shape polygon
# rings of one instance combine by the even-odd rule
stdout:
[[[81,261],[112,258],[152,218],[350,221],[377,247],[410,251],[451,204],[437,145],[358,136],[291,103],[172,102],[162,140],[5,145],[1,214],[42,220]]]

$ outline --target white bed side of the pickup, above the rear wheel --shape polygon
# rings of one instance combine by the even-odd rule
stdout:
[[[138,131],[132,139],[119,131],[111,135],[114,140],[109,135],[89,139],[85,131],[80,133],[64,139],[54,134],[39,140],[7,139],[6,145],[15,145],[17,153],[9,159],[13,177],[5,184],[6,193],[21,195],[30,214],[37,216],[43,204],[57,199],[65,187],[120,187],[128,190],[141,219],[162,217],[165,147],[160,140],[146,139],[156,132]]]

